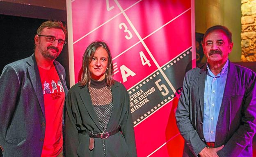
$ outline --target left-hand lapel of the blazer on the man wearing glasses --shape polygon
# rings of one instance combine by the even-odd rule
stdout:
[[[43,99],[43,88],[41,85],[41,78],[39,74],[39,70],[37,67],[37,62],[34,54],[28,59],[27,63],[30,65],[27,67],[27,72],[29,74],[30,82],[34,88],[34,91],[37,95],[37,99],[39,101],[39,105],[43,112],[43,116],[45,117],[45,110],[44,110],[44,99]]]

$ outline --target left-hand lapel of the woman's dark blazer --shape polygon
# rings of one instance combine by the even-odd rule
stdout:
[[[79,95],[82,99],[83,104],[85,105],[85,108],[87,109],[91,119],[94,121],[96,126],[98,127],[99,130],[101,130],[100,123],[98,121],[98,118],[96,116],[96,113],[94,111],[94,107],[91,102],[91,96],[88,90],[87,85],[85,87],[82,87],[82,89],[79,91]],[[102,132],[103,130],[101,130]]]

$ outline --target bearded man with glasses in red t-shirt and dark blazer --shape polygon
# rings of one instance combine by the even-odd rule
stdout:
[[[67,87],[64,67],[55,59],[65,39],[62,22],[43,22],[34,37],[34,54],[3,69],[0,148],[4,157],[62,157]],[[65,92],[51,92],[52,81],[62,84]]]

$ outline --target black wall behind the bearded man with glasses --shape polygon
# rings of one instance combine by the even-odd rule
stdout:
[[[45,21],[36,18],[0,15],[0,73],[8,63],[26,58],[34,53],[34,36],[37,33],[37,28]],[[66,70],[66,83],[69,87],[68,44],[64,46],[56,60]]]

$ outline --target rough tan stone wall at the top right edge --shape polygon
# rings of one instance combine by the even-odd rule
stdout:
[[[256,0],[241,0],[242,62],[256,61]]]

